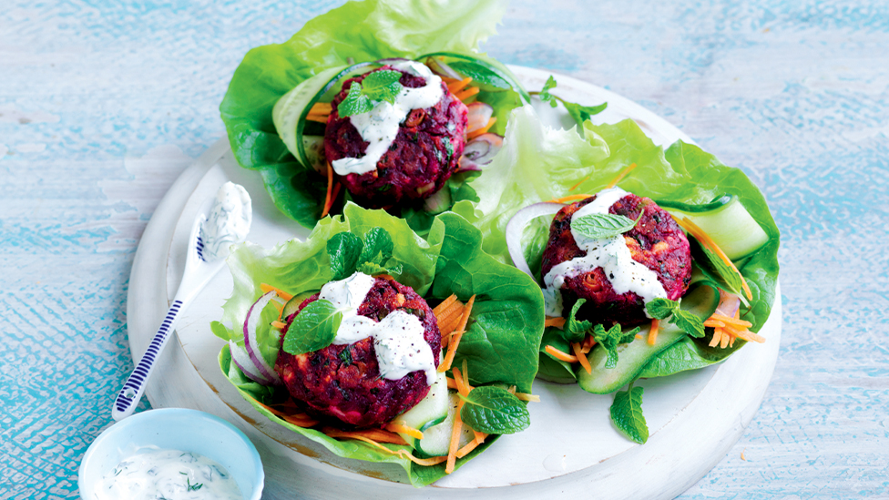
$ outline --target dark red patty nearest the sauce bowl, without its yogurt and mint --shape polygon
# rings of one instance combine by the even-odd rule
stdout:
[[[288,328],[302,308],[317,300],[315,294],[303,301],[300,309],[288,318]],[[420,320],[424,340],[432,348],[438,366],[442,350],[438,321],[426,301],[411,287],[377,278],[358,314],[381,321],[396,310],[414,314]],[[283,338],[281,335],[281,342]],[[398,380],[382,378],[371,338],[299,355],[281,350],[275,372],[281,375],[291,395],[306,404],[309,413],[332,416],[355,427],[389,423],[429,393],[423,371],[410,372]]]

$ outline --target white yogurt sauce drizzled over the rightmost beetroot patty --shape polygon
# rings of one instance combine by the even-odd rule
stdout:
[[[605,214],[611,205],[628,195],[628,192],[620,188],[604,189],[599,191],[596,199],[589,202],[574,212],[573,218],[590,214]],[[627,240],[622,234],[611,238],[590,239],[586,236],[571,231],[574,241],[580,250],[586,250],[587,255],[566,260],[554,266],[544,276],[543,290],[547,315],[562,315],[562,285],[566,278],[583,274],[596,268],[602,268],[605,277],[611,282],[611,286],[617,293],[633,291],[648,303],[656,298],[667,298],[667,291],[658,280],[658,273],[649,270],[644,264],[633,260],[633,256],[627,247]],[[645,311],[649,316],[649,311]]]

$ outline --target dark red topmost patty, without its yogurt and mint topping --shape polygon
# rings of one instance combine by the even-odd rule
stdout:
[[[373,71],[394,69],[383,66]],[[361,82],[372,72],[350,78],[333,98],[333,111],[324,131],[324,153],[331,163],[341,158],[361,158],[368,143],[363,140],[349,117],[337,112],[352,82]],[[402,71],[399,82],[404,87],[423,87],[426,82]],[[445,186],[463,155],[468,123],[465,104],[454,97],[442,82],[444,96],[434,107],[414,109],[398,129],[389,150],[377,162],[376,170],[349,174],[340,178],[353,197],[368,208],[388,207],[402,201],[426,199]]]

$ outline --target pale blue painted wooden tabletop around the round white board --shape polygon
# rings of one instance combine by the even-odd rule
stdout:
[[[133,367],[142,230],[223,136],[240,58],[340,3],[3,3],[0,498],[77,496]],[[514,2],[485,49],[666,117],[743,168],[782,230],[773,381],[682,498],[889,495],[889,4],[538,4]]]

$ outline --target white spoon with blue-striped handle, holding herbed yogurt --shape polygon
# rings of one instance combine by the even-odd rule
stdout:
[[[185,260],[185,273],[179,290],[173,297],[167,316],[154,334],[148,350],[130,373],[127,382],[118,393],[111,409],[111,416],[119,421],[136,410],[136,405],[145,393],[148,377],[154,370],[160,352],[176,326],[180,313],[198,296],[210,279],[222,269],[229,246],[247,238],[250,230],[252,210],[247,190],[226,182],[216,194],[216,201],[207,219],[203,214],[194,221],[189,236],[189,250]]]

